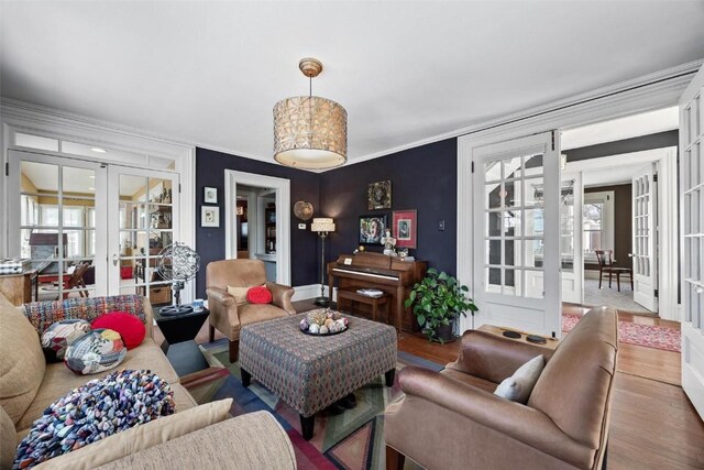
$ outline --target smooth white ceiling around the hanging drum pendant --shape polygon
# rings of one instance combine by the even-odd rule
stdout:
[[[349,114],[351,161],[702,58],[702,1],[7,1],[3,97],[273,163],[272,108]]]

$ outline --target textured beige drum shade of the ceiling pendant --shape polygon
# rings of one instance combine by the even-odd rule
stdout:
[[[274,160],[304,170],[348,161],[348,112],[317,96],[285,98],[274,106]]]

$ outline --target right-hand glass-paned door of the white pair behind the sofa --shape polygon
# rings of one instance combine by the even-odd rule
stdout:
[[[160,253],[178,239],[178,176],[110,167],[110,288],[170,305],[170,281],[158,273]]]

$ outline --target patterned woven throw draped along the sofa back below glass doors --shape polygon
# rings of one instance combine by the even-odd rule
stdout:
[[[111,297],[67,298],[65,300],[34,302],[23,307],[24,316],[40,336],[58,320],[82,318],[92,321],[109,311],[127,311],[144,323],[144,306],[140,295]]]

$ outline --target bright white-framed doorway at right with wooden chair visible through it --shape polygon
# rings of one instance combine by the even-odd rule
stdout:
[[[582,210],[575,211],[580,229],[574,233],[574,242],[582,245],[583,276],[578,281],[583,292],[581,298],[568,296],[563,282],[563,300],[584,306],[608,304],[645,315],[662,310],[663,318],[674,319],[676,149],[568,160],[565,174],[578,176],[581,187],[576,192],[583,195]],[[614,276],[609,283],[607,272],[600,270],[596,250],[612,251],[613,265],[622,271],[620,286]],[[629,270],[632,284],[624,273]]]

